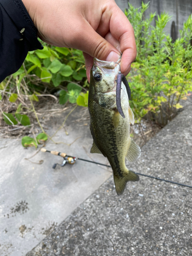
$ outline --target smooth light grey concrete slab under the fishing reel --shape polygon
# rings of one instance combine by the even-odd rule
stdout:
[[[52,117],[46,124],[51,135],[63,122],[70,110]],[[48,150],[90,159],[92,137],[89,129],[88,110],[77,108],[67,119],[66,130],[61,129],[54,140],[73,142],[71,146],[49,142]],[[86,118],[85,118],[86,117]],[[86,125],[84,125],[86,124]],[[25,150],[19,140],[0,141],[0,254],[21,256],[44,239],[56,225],[87,199],[111,176],[110,170],[96,164],[77,161],[75,165],[57,166],[62,158],[49,153],[35,153],[35,148]],[[92,155],[95,161],[107,163],[101,155]]]

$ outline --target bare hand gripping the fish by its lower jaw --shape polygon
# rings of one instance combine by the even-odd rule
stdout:
[[[117,61],[127,75],[136,57],[133,28],[114,0],[23,0],[41,40],[83,51],[87,77],[93,57]]]

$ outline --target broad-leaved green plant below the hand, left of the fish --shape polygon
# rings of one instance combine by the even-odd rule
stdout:
[[[15,102],[18,95],[25,95],[38,101],[37,94],[44,94],[45,88],[49,88],[51,94],[65,90],[66,99],[74,102],[74,97],[77,98],[82,89],[87,91],[84,88],[89,84],[82,52],[43,44],[43,50],[29,52],[22,67],[0,84],[0,100],[7,97]],[[74,93],[71,92],[72,83]],[[63,99],[59,102],[66,103]]]

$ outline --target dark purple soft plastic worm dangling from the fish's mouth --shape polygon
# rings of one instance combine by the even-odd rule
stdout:
[[[117,63],[117,62],[116,62],[116,64],[119,65],[119,63]],[[119,65],[119,68],[120,68],[120,65]],[[127,82],[125,76],[121,73],[121,68],[120,68],[119,73],[117,75],[116,104],[117,104],[117,110],[119,111],[119,114],[123,118],[125,118],[125,115],[124,115],[124,113],[122,111],[122,108],[121,108],[121,82],[124,83],[127,95],[129,97],[129,100],[130,100],[130,98],[131,98],[131,89],[130,89],[129,83]]]

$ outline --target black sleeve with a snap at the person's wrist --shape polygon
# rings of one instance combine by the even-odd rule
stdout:
[[[28,51],[43,49],[22,0],[0,0],[0,82],[15,73]]]

